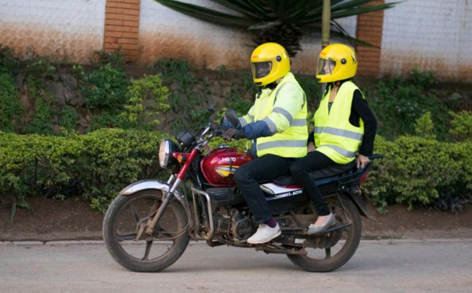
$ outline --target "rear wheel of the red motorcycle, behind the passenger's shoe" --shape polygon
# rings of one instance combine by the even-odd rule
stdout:
[[[340,230],[342,234],[338,236],[341,237],[341,239],[338,239],[336,241],[337,243],[335,243],[341,246],[341,248],[333,255],[331,255],[332,248],[324,249],[324,252],[322,252],[323,248],[305,248],[308,252],[306,256],[287,254],[287,257],[289,257],[295,265],[309,272],[330,272],[344,265],[344,263],[354,255],[359,246],[359,241],[361,240],[361,216],[352,200],[344,195],[341,195],[340,198],[345,213],[343,213],[337,197],[326,199],[326,204],[328,204],[331,213],[335,214],[337,223],[350,222],[350,226]],[[305,210],[309,213],[310,208],[306,208]],[[322,237],[322,235],[314,237]],[[317,257],[310,256],[309,250],[317,250]],[[320,254],[319,252],[322,253]]]

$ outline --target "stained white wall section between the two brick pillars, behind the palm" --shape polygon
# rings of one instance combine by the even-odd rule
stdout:
[[[183,0],[207,8],[219,8],[212,1]],[[249,68],[249,56],[254,50],[252,34],[242,29],[226,28],[188,17],[153,0],[142,0],[139,19],[139,62],[152,63],[163,56],[186,58],[192,64],[215,69]],[[339,20],[355,35],[357,17]],[[293,59],[293,71],[313,74],[321,39],[315,32],[306,32],[302,39],[303,52]]]

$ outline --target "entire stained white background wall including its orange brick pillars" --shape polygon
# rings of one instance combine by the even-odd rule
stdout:
[[[89,63],[93,51],[104,49],[104,43],[110,43],[105,49],[112,50],[113,45],[126,42],[130,48],[124,48],[129,51],[124,53],[138,63],[153,63],[170,56],[211,69],[220,65],[227,69],[249,67],[249,54],[254,49],[251,34],[187,17],[154,0],[137,1],[108,1],[109,19],[105,20],[106,0],[0,0],[0,44],[14,48],[21,56],[36,52],[71,63]],[[182,1],[218,8],[216,3],[206,0]],[[385,0],[393,1],[396,0]],[[119,10],[116,5],[123,6],[123,23],[131,13],[125,7],[137,7],[136,32],[126,31],[126,36],[119,37],[110,30],[109,36],[104,35],[106,21],[111,25],[120,19],[120,13],[111,14]],[[359,32],[357,17],[341,19],[339,23],[353,36]],[[365,24],[374,25],[369,20]],[[381,52],[376,57],[380,60],[375,61],[379,71],[372,70],[372,76],[401,74],[418,68],[434,70],[440,80],[472,82],[472,0],[397,3],[395,8],[385,10],[381,32]],[[124,37],[131,38],[135,45]],[[332,43],[335,41],[332,39]],[[306,32],[302,39],[304,51],[293,59],[294,72],[315,72],[320,43],[317,32]]]

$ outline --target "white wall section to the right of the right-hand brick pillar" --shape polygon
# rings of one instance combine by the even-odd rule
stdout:
[[[440,80],[472,81],[471,0],[408,0],[385,10],[381,75],[414,68],[433,70]]]

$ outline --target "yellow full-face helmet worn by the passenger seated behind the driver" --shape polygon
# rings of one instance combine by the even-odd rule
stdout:
[[[331,83],[352,78],[356,72],[356,53],[348,45],[328,45],[319,53],[316,74],[319,83]]]

